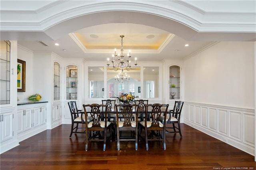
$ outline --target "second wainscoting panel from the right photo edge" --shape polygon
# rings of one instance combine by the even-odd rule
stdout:
[[[235,111],[229,111],[230,119],[229,119],[229,136],[230,138],[234,138],[236,140],[242,141],[241,138],[241,115],[242,113],[235,112]]]

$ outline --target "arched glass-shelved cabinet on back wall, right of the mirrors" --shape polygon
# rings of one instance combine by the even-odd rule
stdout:
[[[180,99],[180,67],[177,65],[170,66],[170,98],[169,99]]]

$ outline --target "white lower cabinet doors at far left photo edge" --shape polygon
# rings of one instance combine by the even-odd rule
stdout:
[[[0,142],[4,142],[12,138],[12,119],[12,112],[0,114]]]

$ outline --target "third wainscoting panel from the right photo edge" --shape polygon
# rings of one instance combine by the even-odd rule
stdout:
[[[218,132],[228,136],[228,111],[218,110]]]

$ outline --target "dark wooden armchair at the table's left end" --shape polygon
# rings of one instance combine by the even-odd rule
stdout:
[[[71,132],[70,132],[70,136],[69,136],[69,138],[71,138],[73,133],[85,133],[85,128],[82,127],[82,124],[84,124],[85,122],[82,121],[82,119],[81,119],[81,117],[83,117],[83,120],[85,120],[85,115],[83,113],[81,113],[82,110],[77,109],[76,101],[69,101],[68,107],[70,110],[71,121],[72,121]],[[92,117],[87,117],[87,121],[88,122],[92,121]],[[81,126],[79,127],[79,125],[81,125]],[[77,131],[78,128],[84,129],[84,131]]]

